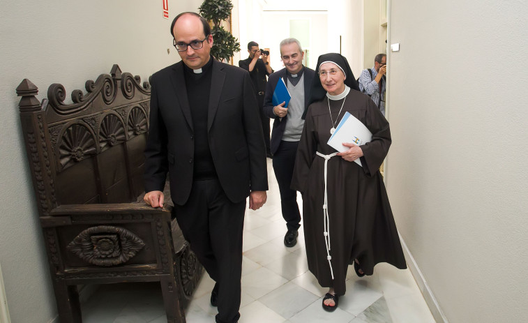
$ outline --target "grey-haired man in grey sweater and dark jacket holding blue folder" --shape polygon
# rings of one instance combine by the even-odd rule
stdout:
[[[273,171],[279,185],[282,217],[286,220],[284,244],[293,247],[297,243],[301,227],[301,213],[297,204],[297,192],[289,186],[292,183],[297,146],[303,132],[302,117],[308,109],[315,71],[303,66],[304,52],[299,40],[295,38],[286,38],[280,42],[280,57],[285,68],[269,76],[264,96],[264,114],[275,119],[270,142]],[[292,96],[287,107],[284,102],[276,106],[272,103],[273,91],[280,78],[284,80]]]

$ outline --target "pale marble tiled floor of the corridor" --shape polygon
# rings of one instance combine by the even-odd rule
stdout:
[[[303,231],[294,248],[282,243],[286,227],[268,162],[268,202],[262,209],[246,212],[240,323],[435,322],[410,271],[388,264],[378,264],[374,275],[363,278],[350,267],[347,294],[340,297],[335,312],[324,311],[321,303],[326,289],[308,271]],[[187,322],[214,322],[216,308],[209,303],[213,285],[205,274],[186,311]],[[103,285],[82,310],[84,323],[167,322],[157,283]]]

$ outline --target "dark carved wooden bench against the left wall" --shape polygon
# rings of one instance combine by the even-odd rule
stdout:
[[[36,98],[17,87],[20,120],[40,225],[62,323],[82,322],[77,285],[159,281],[167,322],[183,311],[202,266],[163,209],[142,202],[150,85],[121,73],[86,82],[86,91],[52,84]],[[169,193],[167,192],[167,197]]]

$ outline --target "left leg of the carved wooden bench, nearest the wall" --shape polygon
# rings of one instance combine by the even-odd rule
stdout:
[[[61,323],[82,323],[77,285],[66,285],[62,280],[54,279],[53,288],[59,321]]]

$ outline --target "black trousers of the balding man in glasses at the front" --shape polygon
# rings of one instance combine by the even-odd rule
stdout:
[[[246,200],[231,202],[217,179],[194,181],[187,203],[173,211],[191,250],[218,283],[216,322],[237,322]]]

